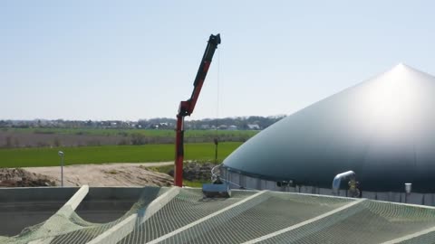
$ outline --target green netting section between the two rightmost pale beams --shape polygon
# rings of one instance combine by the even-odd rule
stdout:
[[[382,243],[433,226],[434,209],[367,200],[261,243]]]

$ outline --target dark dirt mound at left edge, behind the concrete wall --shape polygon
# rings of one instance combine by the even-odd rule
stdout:
[[[0,168],[0,187],[53,186],[53,179],[22,168]]]

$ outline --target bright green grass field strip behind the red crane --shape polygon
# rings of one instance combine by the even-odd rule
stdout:
[[[221,162],[242,143],[219,143]],[[174,145],[106,145],[54,148],[0,149],[0,167],[37,167],[59,165],[57,152],[65,154],[65,164],[138,163],[172,161]],[[186,160],[214,160],[215,145],[198,143],[185,145]]]

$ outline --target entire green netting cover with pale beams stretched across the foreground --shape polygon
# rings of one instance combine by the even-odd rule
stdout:
[[[87,243],[133,214],[151,212],[156,202],[150,202],[168,190],[144,188],[130,211],[103,224],[84,221],[71,208],[63,208],[18,236],[0,237],[0,243]],[[233,191],[228,199],[205,199],[201,189],[179,189],[168,199],[146,221],[133,219],[130,229],[116,230],[104,241],[435,243],[435,209],[430,207],[288,192]]]

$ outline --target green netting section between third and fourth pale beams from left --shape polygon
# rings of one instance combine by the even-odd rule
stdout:
[[[265,192],[162,243],[241,243],[314,218],[350,201]]]

